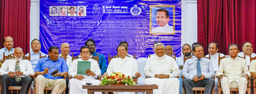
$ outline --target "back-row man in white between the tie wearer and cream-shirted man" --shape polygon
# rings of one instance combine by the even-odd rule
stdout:
[[[218,71],[218,54],[220,54],[220,57],[225,56],[222,53],[217,53],[218,52],[218,44],[216,42],[211,42],[208,45],[208,52],[209,54],[206,55],[205,57],[209,57],[210,55],[210,59],[212,61],[212,65],[213,65],[213,69],[214,72]],[[218,94],[218,77],[215,77],[215,94]]]

